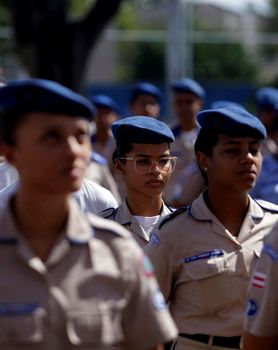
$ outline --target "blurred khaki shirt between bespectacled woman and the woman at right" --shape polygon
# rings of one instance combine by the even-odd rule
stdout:
[[[188,140],[184,139],[184,133],[179,127],[174,128],[175,141],[171,144],[171,155],[177,157],[176,167],[171,174],[167,186],[164,190],[163,198],[167,204],[173,202],[175,186],[185,169],[195,160],[194,143],[196,141],[199,129],[188,132]]]

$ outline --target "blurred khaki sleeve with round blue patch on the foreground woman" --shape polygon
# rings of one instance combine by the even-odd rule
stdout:
[[[137,248],[137,247],[136,247]],[[130,300],[123,316],[128,349],[150,349],[174,340],[177,329],[154,277],[150,260],[138,248],[132,252]],[[134,273],[134,272],[133,272]]]

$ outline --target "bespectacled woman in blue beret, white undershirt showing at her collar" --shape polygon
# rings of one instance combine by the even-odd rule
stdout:
[[[117,209],[107,209],[101,215],[126,227],[143,247],[152,229],[173,211],[162,196],[176,162],[170,154],[174,135],[163,122],[144,116],[115,122],[112,132],[116,139],[114,163],[127,196]]]

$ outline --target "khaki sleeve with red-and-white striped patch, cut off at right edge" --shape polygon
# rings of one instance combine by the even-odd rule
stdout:
[[[248,290],[245,330],[256,336],[278,336],[278,227],[266,237]]]

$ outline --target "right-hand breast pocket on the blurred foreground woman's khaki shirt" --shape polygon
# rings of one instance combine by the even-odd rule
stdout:
[[[67,314],[67,335],[73,345],[117,345],[123,340],[121,324],[119,306],[100,305],[94,310],[72,310]]]

